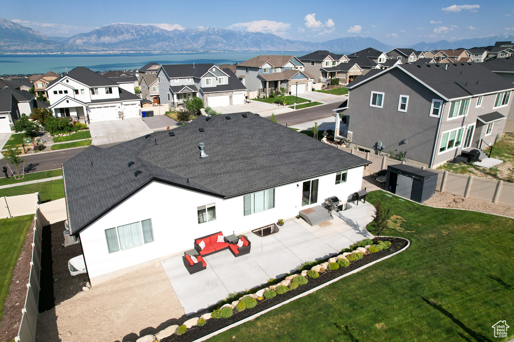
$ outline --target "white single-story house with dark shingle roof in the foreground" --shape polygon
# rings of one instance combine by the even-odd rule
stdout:
[[[90,146],[63,163],[69,232],[93,286],[180,255],[195,238],[249,234],[328,197],[351,200],[370,163],[250,112],[200,115],[170,132]]]

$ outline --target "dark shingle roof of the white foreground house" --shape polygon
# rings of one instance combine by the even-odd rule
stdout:
[[[370,163],[253,113],[242,114],[231,113],[231,120],[199,116],[173,129],[173,137],[159,131],[106,149],[90,146],[64,162],[71,233],[152,180],[226,198]],[[200,158],[199,142],[205,142],[209,157]],[[130,161],[135,164],[128,167]],[[136,170],[142,172],[137,177]]]

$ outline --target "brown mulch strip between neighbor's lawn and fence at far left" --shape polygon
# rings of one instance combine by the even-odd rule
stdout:
[[[12,270],[12,280],[9,293],[4,302],[2,322],[0,324],[0,340],[10,341],[18,334],[22,320],[22,309],[27,298],[27,283],[29,282],[30,261],[32,260],[32,241],[34,239],[34,220],[25,236],[22,251]]]

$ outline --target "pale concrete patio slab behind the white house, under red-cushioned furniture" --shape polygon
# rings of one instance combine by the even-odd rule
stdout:
[[[250,254],[235,258],[225,250],[209,255],[205,257],[207,269],[192,275],[181,255],[162,260],[162,268],[186,314],[196,313],[230,293],[260,286],[270,278],[293,272],[303,262],[336,255],[355,241],[372,238],[365,226],[372,221],[374,210],[369,203],[359,203],[350,210],[333,213],[333,220],[321,224],[324,227],[292,219],[270,236],[247,233],[252,244]],[[230,230],[228,227],[224,233]]]

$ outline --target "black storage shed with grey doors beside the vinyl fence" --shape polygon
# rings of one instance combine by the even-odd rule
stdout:
[[[386,189],[398,196],[423,203],[435,194],[437,174],[403,164],[387,167]]]

